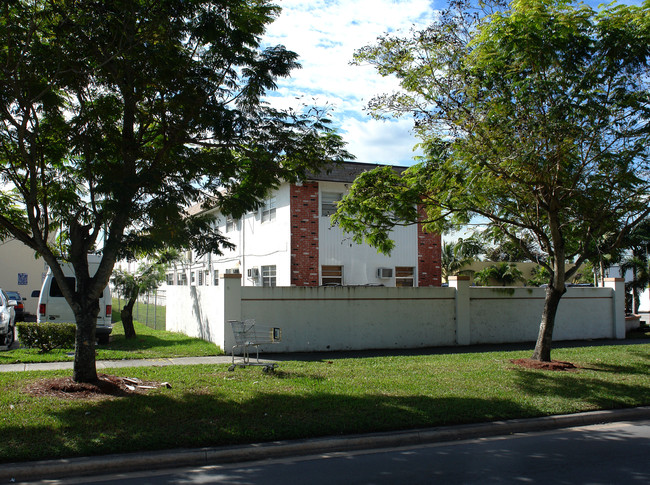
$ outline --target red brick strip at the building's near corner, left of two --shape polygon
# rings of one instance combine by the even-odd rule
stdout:
[[[318,286],[318,182],[291,185],[291,286]]]

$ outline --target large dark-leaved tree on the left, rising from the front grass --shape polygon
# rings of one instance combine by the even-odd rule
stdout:
[[[227,238],[186,207],[237,216],[281,181],[349,154],[320,110],[264,103],[298,67],[295,53],[260,46],[279,13],[267,0],[0,9],[0,238],[52,268],[77,323],[73,378],[93,382],[98,298],[118,257],[173,246],[219,253]],[[90,252],[102,255],[92,276]]]

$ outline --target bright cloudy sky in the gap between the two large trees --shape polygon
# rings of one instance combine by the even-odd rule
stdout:
[[[302,69],[280,80],[270,98],[276,106],[302,101],[332,106],[332,119],[358,162],[410,165],[417,140],[407,118],[377,121],[364,112],[373,95],[392,92],[394,79],[370,66],[351,66],[356,49],[386,33],[408,34],[433,20],[445,1],[431,0],[277,0],[280,17],[265,42],[282,44],[300,55]],[[601,1],[588,3],[597,6]],[[641,3],[627,0],[619,3]],[[296,99],[300,98],[300,99]]]

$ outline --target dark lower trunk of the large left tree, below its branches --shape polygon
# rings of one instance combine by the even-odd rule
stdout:
[[[74,369],[72,378],[75,382],[97,382],[95,365],[95,329],[99,314],[99,301],[75,312],[77,332],[75,338]]]

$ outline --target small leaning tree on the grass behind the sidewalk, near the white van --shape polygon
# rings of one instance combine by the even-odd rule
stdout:
[[[165,280],[166,270],[169,265],[178,259],[176,251],[166,251],[162,254],[153,255],[151,262],[144,263],[137,272],[129,273],[121,269],[113,270],[111,281],[120,293],[126,297],[126,303],[122,307],[120,317],[124,327],[124,337],[133,339],[136,337],[133,326],[133,306],[138,297],[149,291],[155,290]]]

